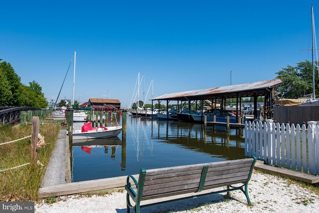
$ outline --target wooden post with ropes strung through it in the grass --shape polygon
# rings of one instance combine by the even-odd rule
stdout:
[[[39,134],[39,117],[32,117],[32,133],[31,133],[31,135],[23,137],[23,138],[20,138],[20,139],[17,139],[17,140],[14,140],[14,141],[8,141],[8,142],[1,143],[0,146],[4,145],[4,144],[9,144],[9,143],[14,143],[14,142],[17,142],[17,141],[21,141],[21,140],[24,140],[24,139],[27,139],[27,138],[31,138],[30,162],[22,164],[22,165],[19,165],[19,166],[16,166],[16,167],[13,167],[13,168],[3,169],[3,170],[0,170],[0,172],[4,172],[4,171],[7,171],[7,170],[11,170],[11,169],[16,169],[16,168],[19,168],[19,167],[26,166],[28,164],[31,164],[31,166],[35,166],[36,163],[40,164],[42,167],[44,167],[39,161],[37,161],[37,148],[38,147],[42,147],[45,144],[44,137]],[[38,139],[40,139],[40,140],[38,141]]]

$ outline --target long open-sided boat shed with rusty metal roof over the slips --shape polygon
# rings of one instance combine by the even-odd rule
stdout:
[[[254,119],[257,119],[257,98],[260,96],[264,97],[263,106],[263,117],[264,119],[273,118],[273,102],[276,97],[275,89],[276,86],[282,84],[282,80],[275,78],[272,80],[258,81],[245,84],[229,85],[208,89],[198,89],[186,92],[176,92],[164,94],[159,97],[150,99],[152,101],[166,101],[166,108],[168,108],[169,101],[177,101],[177,107],[181,104],[187,104],[187,106],[192,106],[196,104],[196,109],[203,111],[204,102],[208,104],[212,109],[215,108],[217,103],[220,103],[220,109],[226,109],[226,99],[236,98],[236,106],[241,107],[241,98],[253,97],[253,115]],[[199,103],[199,104],[198,104]],[[241,108],[237,108],[236,114],[241,112]]]

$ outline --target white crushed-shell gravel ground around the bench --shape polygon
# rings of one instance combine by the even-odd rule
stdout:
[[[142,213],[318,213],[319,196],[287,179],[253,173],[248,184],[252,205],[241,191],[231,198],[217,194],[144,208]],[[126,213],[126,193],[105,196],[62,196],[51,205],[35,204],[35,213]],[[133,213],[133,210],[131,210]]]

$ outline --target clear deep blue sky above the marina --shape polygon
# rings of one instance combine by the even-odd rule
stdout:
[[[54,101],[119,99],[274,79],[312,60],[314,0],[2,0],[0,58]],[[318,15],[317,15],[318,14]],[[317,18],[318,17],[318,18]],[[231,76],[231,77],[230,77]],[[151,103],[150,101],[146,101]]]

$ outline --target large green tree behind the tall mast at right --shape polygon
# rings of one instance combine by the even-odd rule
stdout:
[[[288,65],[276,74],[278,74],[277,78],[283,81],[277,87],[277,91],[283,98],[299,98],[313,93],[313,68],[310,61],[299,62],[295,67]],[[319,78],[316,66],[315,83],[315,88],[318,88]],[[318,89],[316,93],[317,91]]]

